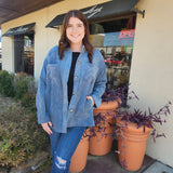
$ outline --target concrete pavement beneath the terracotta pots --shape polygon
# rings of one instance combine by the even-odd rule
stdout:
[[[51,173],[51,168],[43,173]],[[145,156],[143,165],[138,171],[127,171],[121,168],[118,155],[111,150],[105,156],[89,155],[86,167],[80,173],[173,173],[173,168]]]

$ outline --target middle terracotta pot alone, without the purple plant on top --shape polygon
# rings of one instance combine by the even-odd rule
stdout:
[[[94,132],[91,132],[89,154],[103,156],[111,150],[114,139],[114,110],[116,108],[118,108],[117,102],[108,102],[102,103],[98,108],[94,109],[94,116],[101,112],[105,120],[96,124],[96,127],[92,127]],[[93,136],[93,134],[95,135]]]

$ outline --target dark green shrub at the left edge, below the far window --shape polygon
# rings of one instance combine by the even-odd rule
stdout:
[[[6,70],[0,71],[0,93],[5,96],[14,96],[13,88],[14,75],[9,74]]]

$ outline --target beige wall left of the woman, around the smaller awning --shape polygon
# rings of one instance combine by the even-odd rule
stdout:
[[[41,66],[48,51],[58,43],[61,31],[45,28],[45,26],[58,14],[71,9],[83,9],[108,0],[65,0],[49,8],[36,11],[1,25],[2,35],[10,28],[36,22],[35,26],[35,77],[39,78]],[[13,37],[2,37],[2,65],[3,69],[14,71]]]

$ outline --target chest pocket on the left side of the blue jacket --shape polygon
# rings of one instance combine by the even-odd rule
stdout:
[[[61,82],[61,66],[51,64],[46,66],[46,83],[51,85],[59,85]]]

